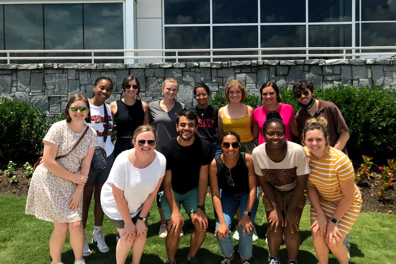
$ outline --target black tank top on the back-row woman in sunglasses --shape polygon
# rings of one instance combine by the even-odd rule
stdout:
[[[117,137],[132,137],[145,118],[142,101],[136,100],[133,106],[128,106],[121,100],[117,100],[116,103],[117,112],[114,121],[117,126]]]

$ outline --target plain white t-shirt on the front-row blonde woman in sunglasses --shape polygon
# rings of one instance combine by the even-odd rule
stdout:
[[[112,184],[124,191],[131,218],[141,211],[148,195],[155,190],[159,179],[165,175],[166,159],[157,151],[155,154],[151,164],[143,169],[135,168],[128,160],[129,150],[115,158],[110,174],[100,192],[102,209],[109,218],[122,220],[115,204]]]

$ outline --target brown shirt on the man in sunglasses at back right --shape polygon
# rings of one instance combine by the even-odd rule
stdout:
[[[340,135],[348,131],[347,124],[344,121],[344,117],[341,114],[340,109],[338,109],[335,104],[328,101],[322,101],[318,98],[316,98],[316,100],[318,100],[319,105],[313,116],[309,115],[308,112],[302,108],[299,109],[296,114],[298,137],[302,139],[302,130],[307,119],[321,115],[327,119],[327,131],[329,133],[330,146],[334,147]],[[346,146],[342,152],[348,155]]]

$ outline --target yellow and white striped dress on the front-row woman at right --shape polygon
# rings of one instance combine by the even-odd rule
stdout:
[[[312,157],[311,152],[304,147],[308,157],[311,173],[308,175],[308,181],[315,185],[319,193],[319,202],[322,210],[329,220],[336,211],[338,203],[343,198],[340,182],[354,180],[354,171],[352,162],[343,152],[330,147],[329,153],[325,158],[316,160]],[[354,187],[353,202],[344,216],[340,219],[338,228],[344,235],[349,233],[350,228],[359,216],[362,206],[362,197],[356,184]],[[311,206],[311,221],[316,219],[316,211]]]

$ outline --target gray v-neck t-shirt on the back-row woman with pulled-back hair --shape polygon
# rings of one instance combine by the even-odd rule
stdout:
[[[175,106],[169,112],[165,112],[159,106],[159,102],[155,101],[148,104],[148,118],[157,131],[157,145],[155,147],[157,151],[162,144],[179,135],[176,131],[176,117],[181,111],[186,110],[183,103],[175,101]]]

